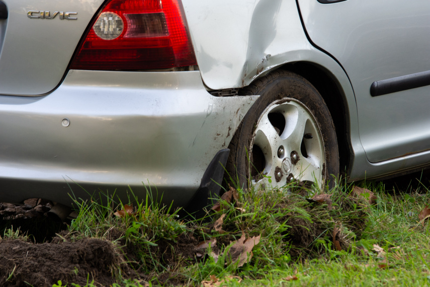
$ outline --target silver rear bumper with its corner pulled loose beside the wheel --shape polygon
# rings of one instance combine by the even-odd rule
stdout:
[[[47,96],[0,97],[0,200],[70,204],[71,190],[98,189],[125,200],[145,183],[184,205],[256,98],[214,97],[199,71],[82,70]]]

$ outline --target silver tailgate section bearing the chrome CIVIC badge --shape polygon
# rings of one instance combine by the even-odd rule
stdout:
[[[103,0],[0,0],[0,94],[43,95],[61,81]],[[4,18],[4,17],[3,17]]]

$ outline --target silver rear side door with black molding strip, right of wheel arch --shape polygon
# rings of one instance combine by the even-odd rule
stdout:
[[[430,2],[297,2],[311,41],[351,80],[368,160],[429,150]]]

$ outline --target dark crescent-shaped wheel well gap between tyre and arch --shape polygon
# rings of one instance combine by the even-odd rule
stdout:
[[[336,128],[339,148],[340,174],[344,177],[351,160],[351,143],[349,135],[349,113],[345,98],[342,97],[335,80],[328,76],[324,68],[310,62],[296,62],[282,66],[308,80],[321,94]]]

